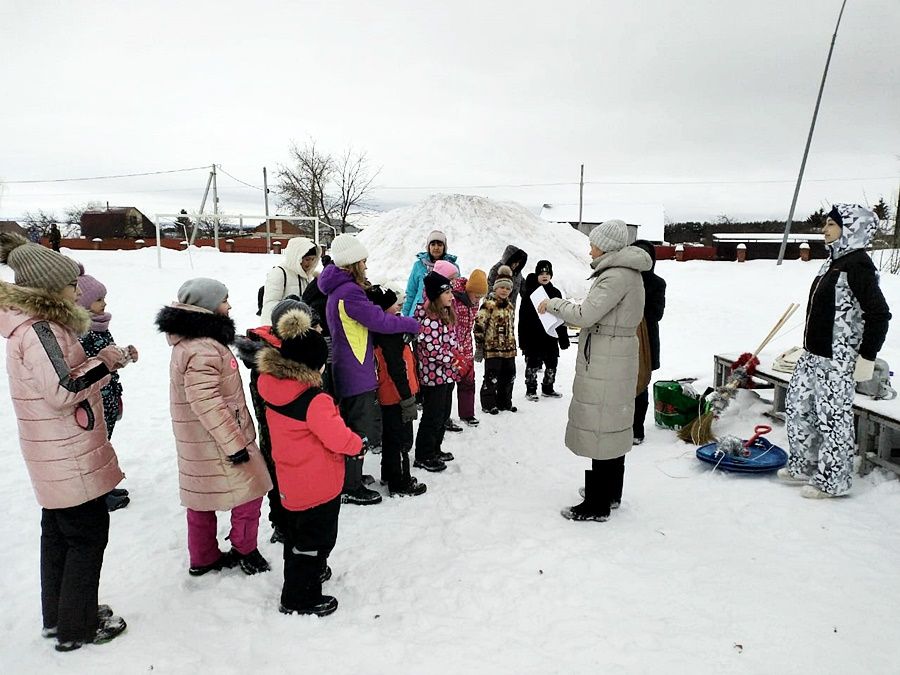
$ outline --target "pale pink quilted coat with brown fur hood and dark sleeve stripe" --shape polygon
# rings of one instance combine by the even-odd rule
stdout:
[[[116,362],[78,341],[86,310],[39,289],[0,282],[0,334],[19,443],[38,503],[78,506],[124,478],[106,438],[100,389]],[[112,349],[116,349],[113,347]]]

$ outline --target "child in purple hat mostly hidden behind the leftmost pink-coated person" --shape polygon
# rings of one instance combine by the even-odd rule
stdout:
[[[96,356],[100,351],[114,345],[112,333],[109,332],[109,323],[112,315],[106,311],[106,286],[94,277],[84,273],[84,267],[79,265],[81,274],[78,277],[78,305],[86,309],[91,315],[91,327],[87,333],[79,338],[84,353],[88,356]],[[106,422],[106,437],[112,439],[112,432],[116,422],[122,418],[122,384],[119,382],[119,374],[112,373],[109,383],[100,389],[100,398],[103,401],[103,421]],[[116,511],[128,506],[131,498],[128,490],[113,488],[106,495],[106,508]]]

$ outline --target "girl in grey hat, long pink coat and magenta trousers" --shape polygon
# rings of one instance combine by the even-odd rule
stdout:
[[[272,480],[229,348],[235,334],[230,309],[228,289],[200,278],[186,281],[178,302],[156,317],[172,346],[169,401],[192,576],[235,565],[247,574],[270,569],[256,542],[260,504]],[[216,511],[229,510],[233,548],[222,553]]]

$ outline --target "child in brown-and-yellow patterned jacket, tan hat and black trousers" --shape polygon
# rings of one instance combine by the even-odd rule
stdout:
[[[512,404],[516,380],[516,306],[510,300],[512,290],[512,270],[501,265],[494,281],[494,295],[481,303],[475,317],[475,360],[484,360],[481,409],[490,415],[518,410]]]

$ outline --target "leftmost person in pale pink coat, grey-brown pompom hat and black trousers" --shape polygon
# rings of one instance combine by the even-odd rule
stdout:
[[[78,336],[91,325],[78,307],[78,264],[19,235],[0,234],[0,334],[19,444],[41,505],[42,635],[58,651],[108,642],[125,621],[97,604],[109,537],[104,499],[124,478],[106,438],[100,389],[137,360],[109,345],[85,356]]]

